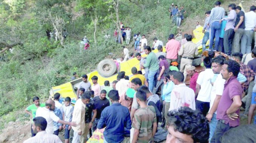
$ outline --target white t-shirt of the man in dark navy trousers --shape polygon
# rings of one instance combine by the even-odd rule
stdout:
[[[197,100],[202,102],[210,102],[211,95],[211,78],[214,73],[212,69],[205,69],[198,75],[196,83],[200,85],[200,91],[197,95]]]

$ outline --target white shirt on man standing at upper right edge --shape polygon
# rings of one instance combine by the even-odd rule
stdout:
[[[256,25],[256,14],[253,11],[245,13],[245,29],[244,30],[254,30]]]

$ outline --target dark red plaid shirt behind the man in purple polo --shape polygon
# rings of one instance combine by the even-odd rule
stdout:
[[[254,71],[244,63],[240,63],[240,73],[246,77],[245,83],[242,84],[242,89],[247,90],[249,86],[249,80],[251,77],[255,77]]]

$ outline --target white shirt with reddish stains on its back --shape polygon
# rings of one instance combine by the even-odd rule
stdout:
[[[171,91],[169,111],[177,110],[180,107],[189,107],[196,110],[194,90],[187,87],[185,83],[174,86]]]

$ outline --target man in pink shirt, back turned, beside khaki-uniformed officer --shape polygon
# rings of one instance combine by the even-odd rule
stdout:
[[[170,34],[168,42],[165,45],[166,59],[168,64],[177,61],[178,51],[180,50],[180,42],[174,39],[174,34]]]

